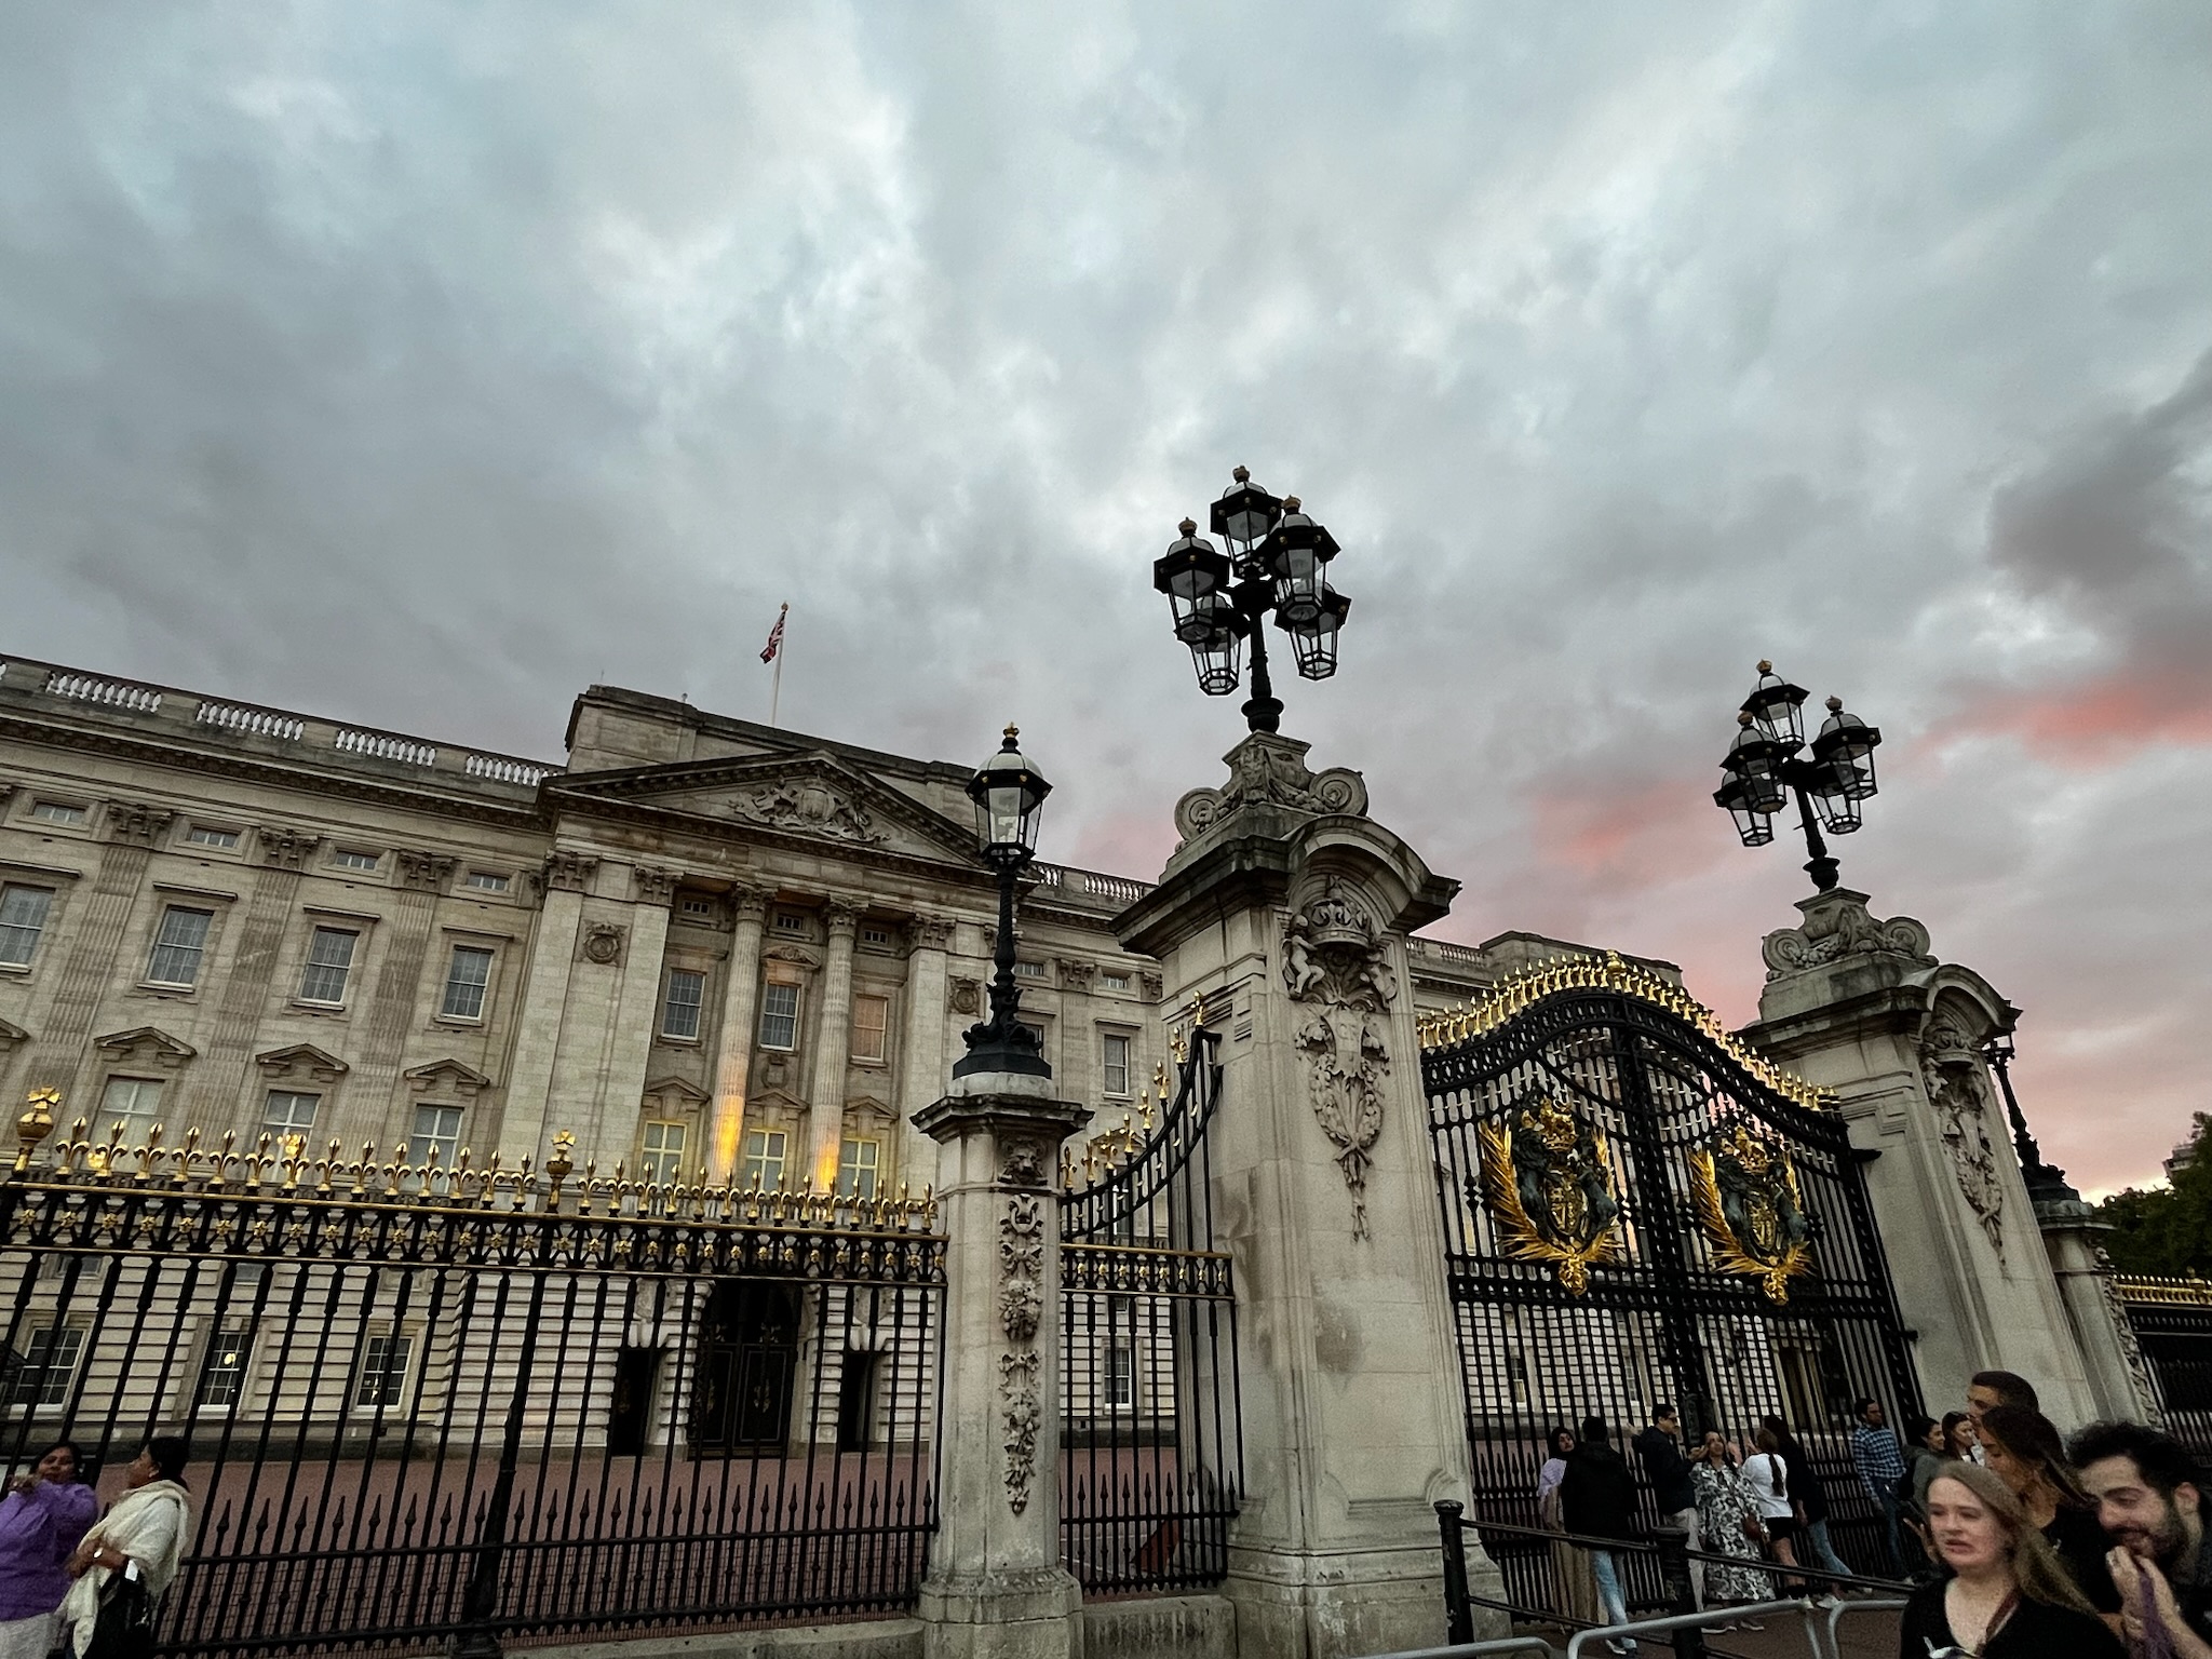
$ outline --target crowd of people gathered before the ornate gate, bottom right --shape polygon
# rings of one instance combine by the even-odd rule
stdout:
[[[1699,1608],[1851,1577],[1820,1471],[1781,1416],[1683,1444],[1681,1413],[1661,1402],[1628,1449],[1650,1509],[1688,1542]],[[1876,1573],[1916,1586],[1900,1659],[2212,1659],[2208,1478],[2170,1436],[2097,1422],[2068,1440],[2024,1378],[1980,1371],[1964,1411],[1916,1416],[1902,1438],[1878,1400],[1860,1400],[1851,1467],[1882,1520]],[[1562,1533],[1559,1613],[1628,1624],[1624,1564],[1606,1544],[1641,1537],[1639,1480],[1604,1418],[1551,1431],[1537,1513]],[[1637,1650],[1630,1637],[1606,1646]]]

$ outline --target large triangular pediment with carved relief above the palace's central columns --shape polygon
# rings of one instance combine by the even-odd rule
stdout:
[[[969,867],[982,863],[971,830],[827,752],[586,772],[549,781],[546,790],[577,807],[734,825]]]

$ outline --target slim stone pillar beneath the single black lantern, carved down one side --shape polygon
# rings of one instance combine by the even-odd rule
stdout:
[[[914,1115],[942,1146],[945,1387],[927,1659],[1071,1659],[1060,1566],[1060,1144],[1091,1108],[1048,1077],[975,1073]]]

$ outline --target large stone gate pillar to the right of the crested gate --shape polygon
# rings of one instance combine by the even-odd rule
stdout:
[[[1851,1144],[1878,1155],[1867,1197],[1924,1405],[1958,1407],[1969,1376],[2004,1369],[2053,1422],[2088,1422],[2095,1389],[1984,1060],[2020,1009],[1936,960],[1920,922],[1876,920],[1865,894],[1836,887],[1798,909],[1798,927],[1767,933],[1743,1037],[1836,1091]]]

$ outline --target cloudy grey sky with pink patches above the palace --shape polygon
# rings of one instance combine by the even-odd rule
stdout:
[[[0,7],[0,650],[560,754],[591,681],[980,759],[1150,876],[1148,564],[1345,553],[1316,763],[1438,929],[1747,1020],[1752,664],[2026,1009],[2086,1188],[2212,1106],[2212,7]]]

